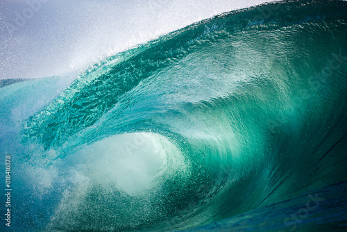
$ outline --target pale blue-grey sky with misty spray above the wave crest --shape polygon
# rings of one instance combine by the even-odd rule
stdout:
[[[0,0],[0,79],[83,70],[194,22],[264,2]]]

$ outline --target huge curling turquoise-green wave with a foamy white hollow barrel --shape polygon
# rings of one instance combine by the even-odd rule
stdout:
[[[0,88],[13,226],[179,231],[346,181],[346,13],[269,3]]]

